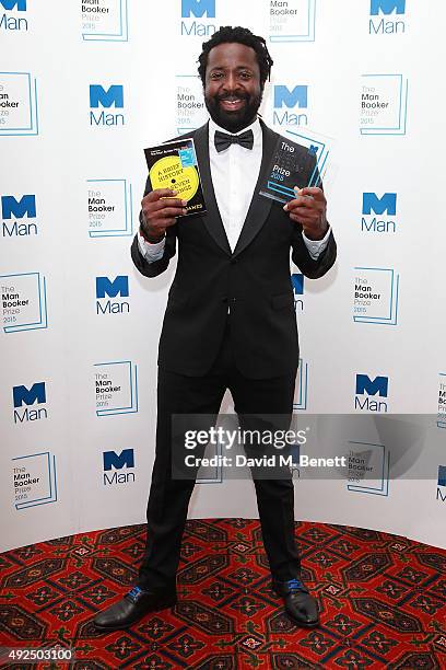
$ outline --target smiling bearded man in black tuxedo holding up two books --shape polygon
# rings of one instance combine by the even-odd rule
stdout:
[[[199,73],[211,119],[193,137],[207,212],[185,217],[171,189],[142,200],[131,255],[146,277],[163,273],[178,244],[159,353],[156,457],[148,540],[138,585],[99,613],[103,631],[125,628],[176,602],[175,575],[192,480],[172,478],[172,415],[216,415],[226,389],[243,415],[291,415],[298,365],[290,276],[309,278],[336,258],[320,188],[296,190],[281,207],[259,195],[279,136],[257,111],[272,60],[261,37],[222,27],[203,44]],[[303,183],[315,159],[302,148]],[[318,625],[316,601],[301,580],[291,476],[255,480],[272,584],[302,626]]]

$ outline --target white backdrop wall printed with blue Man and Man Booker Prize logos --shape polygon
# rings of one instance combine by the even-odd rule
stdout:
[[[143,148],[206,119],[196,61],[227,24],[267,38],[262,115],[317,155],[339,244],[321,280],[292,268],[300,425],[364,415],[347,477],[296,469],[296,516],[445,546],[444,19],[443,0],[0,0],[1,550],[144,520],[175,263],[149,280],[130,261]],[[203,477],[190,513],[257,516],[253,484]]]

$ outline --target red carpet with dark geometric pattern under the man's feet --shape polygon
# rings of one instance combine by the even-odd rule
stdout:
[[[188,521],[175,609],[108,635],[91,620],[132,586],[143,527],[0,555],[1,645],[74,647],[77,670],[446,668],[446,552],[320,523],[296,523],[296,536],[318,629],[282,613],[258,521],[222,519]]]

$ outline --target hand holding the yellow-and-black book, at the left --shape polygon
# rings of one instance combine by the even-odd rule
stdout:
[[[187,212],[187,200],[172,197],[175,195],[177,192],[171,188],[155,188],[142,198],[142,232],[152,240],[162,240],[166,228],[176,222],[176,217]]]

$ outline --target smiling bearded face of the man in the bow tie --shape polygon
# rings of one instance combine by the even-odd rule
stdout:
[[[204,102],[211,118],[230,132],[249,126],[260,106],[262,88],[256,51],[237,42],[209,51]]]

